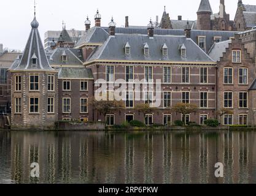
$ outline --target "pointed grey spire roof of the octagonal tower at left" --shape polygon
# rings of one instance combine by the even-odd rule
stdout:
[[[42,45],[41,37],[37,27],[39,26],[36,17],[31,23],[31,32],[29,34],[28,42],[26,43],[23,56],[17,66],[12,66],[15,70],[53,70],[50,67],[47,56],[45,55],[44,46]],[[32,56],[37,57],[36,64],[32,65]]]

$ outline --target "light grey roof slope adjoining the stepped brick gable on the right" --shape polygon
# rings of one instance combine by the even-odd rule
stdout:
[[[227,41],[219,42],[219,43],[214,43],[214,45],[212,45],[212,48],[209,51],[208,55],[214,61],[220,61],[220,57],[223,57],[223,53],[225,53],[226,48],[228,48],[228,45],[230,43],[231,43],[231,40],[227,40]]]

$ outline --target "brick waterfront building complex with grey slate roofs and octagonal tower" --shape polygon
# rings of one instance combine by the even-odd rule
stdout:
[[[129,29],[115,28],[113,19],[106,29],[100,26],[99,12],[95,27],[90,28],[89,22],[74,48],[65,42],[69,40],[65,34],[61,44],[53,43],[52,51],[45,53],[34,18],[23,56],[10,68],[12,127],[46,127],[61,120],[169,124],[181,119],[168,109],[180,102],[199,108],[186,116],[187,122],[202,124],[216,118],[222,105],[234,111],[233,116],[223,116],[223,124],[255,121],[250,115],[254,103],[249,101],[254,91],[255,29],[235,36],[236,32],[196,31],[189,26],[185,31],[154,29],[152,21],[147,29]],[[125,83],[124,109],[103,116],[88,103],[98,80],[109,92],[112,85],[117,89]],[[136,89],[138,81],[142,82]],[[134,99],[138,90],[139,100]],[[144,116],[134,109],[159,94],[160,104],[153,113]]]

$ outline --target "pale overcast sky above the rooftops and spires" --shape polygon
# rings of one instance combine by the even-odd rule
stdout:
[[[66,22],[66,29],[83,30],[86,17],[94,25],[94,15],[99,9],[102,25],[107,26],[111,17],[117,26],[125,25],[125,16],[129,16],[129,25],[145,26],[150,17],[155,21],[155,16],[166,12],[171,19],[182,15],[183,20],[196,20],[196,11],[201,0],[37,0],[36,15],[39,21],[39,31],[44,42],[44,32],[48,30],[61,30],[62,21]],[[219,0],[209,0],[214,13],[219,12]],[[238,0],[226,0],[226,12],[230,13],[233,20],[237,9]],[[244,4],[256,5],[255,0],[243,0]],[[0,3],[0,43],[4,48],[23,50],[31,30],[33,20],[34,0],[6,0]]]

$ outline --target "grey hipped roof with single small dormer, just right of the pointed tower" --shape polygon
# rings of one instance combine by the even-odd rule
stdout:
[[[63,53],[66,54],[68,60],[66,62],[62,61]],[[47,54],[50,56],[48,61],[51,66],[54,65],[68,65],[68,66],[77,66],[83,64],[83,55],[80,49],[74,48],[55,48],[51,53]]]

